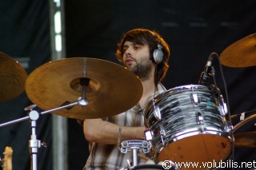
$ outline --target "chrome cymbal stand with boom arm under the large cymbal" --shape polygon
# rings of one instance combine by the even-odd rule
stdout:
[[[40,140],[37,140],[37,135],[36,135],[36,121],[38,120],[40,115],[44,115],[46,113],[51,113],[54,112],[56,110],[59,109],[65,109],[65,108],[70,108],[70,107],[74,107],[75,105],[82,105],[82,106],[86,106],[88,104],[88,101],[84,98],[84,97],[79,97],[78,101],[75,101],[73,103],[70,103],[69,105],[63,105],[60,106],[58,108],[55,109],[50,109],[47,111],[44,111],[42,113],[38,113],[38,111],[36,110],[32,110],[30,108],[30,106],[28,108],[30,108],[30,113],[28,114],[29,116],[27,117],[22,117],[20,119],[14,120],[14,121],[9,121],[6,123],[3,123],[0,125],[0,128],[6,125],[12,125],[14,123],[18,123],[20,121],[26,121],[26,120],[30,120],[31,122],[31,136],[30,136],[30,141],[29,141],[29,147],[30,147],[30,163],[31,163],[31,169],[32,170],[37,170],[38,166],[37,166],[37,154],[38,154],[38,148],[40,148],[42,145],[45,146],[44,144],[41,144]],[[32,107],[34,108],[34,107]]]

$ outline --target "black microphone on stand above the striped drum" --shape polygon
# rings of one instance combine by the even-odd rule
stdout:
[[[200,79],[198,81],[198,85],[208,85],[209,84],[210,67],[211,67],[212,61],[214,60],[213,55],[214,55],[214,53],[210,53],[210,57],[208,58],[208,61],[206,62],[205,69],[201,73]]]

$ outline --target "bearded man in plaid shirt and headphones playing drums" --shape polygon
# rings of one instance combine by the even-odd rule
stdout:
[[[143,109],[154,96],[166,91],[160,82],[169,68],[170,49],[160,34],[146,29],[129,30],[118,43],[116,56],[139,77],[142,98],[114,117],[83,121],[84,135],[90,142],[90,156],[83,169],[120,169],[127,167],[127,160],[132,165],[133,153],[122,153],[118,146],[123,140],[145,140]],[[138,164],[145,162],[138,158]]]

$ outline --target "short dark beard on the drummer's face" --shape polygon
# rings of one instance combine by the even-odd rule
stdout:
[[[136,60],[136,62],[137,64],[131,67],[130,71],[135,73],[141,81],[149,80],[152,61],[147,58],[142,58],[142,60]]]

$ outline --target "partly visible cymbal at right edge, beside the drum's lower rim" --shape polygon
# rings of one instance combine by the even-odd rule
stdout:
[[[256,132],[244,132],[234,135],[235,147],[256,148]]]

